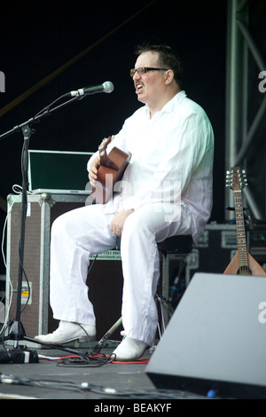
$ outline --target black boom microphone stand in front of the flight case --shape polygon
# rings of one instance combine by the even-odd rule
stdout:
[[[62,96],[62,98],[65,96]],[[21,223],[20,223],[20,245],[19,245],[19,272],[18,272],[18,287],[17,287],[17,306],[16,306],[16,317],[15,321],[12,323],[12,327],[10,330],[10,333],[7,336],[4,336],[2,338],[2,342],[6,340],[12,340],[14,341],[14,350],[19,349],[19,342],[22,340],[28,341],[28,342],[35,342],[35,339],[31,339],[27,337],[25,329],[22,325],[22,322],[20,321],[20,310],[21,310],[21,295],[22,295],[22,279],[23,279],[23,259],[24,259],[24,246],[25,246],[25,226],[26,226],[26,216],[27,216],[27,191],[28,191],[28,178],[27,178],[27,171],[28,171],[28,147],[29,147],[29,139],[31,138],[32,134],[35,133],[35,129],[32,128],[32,126],[40,122],[43,117],[46,117],[47,115],[50,115],[51,113],[59,110],[61,107],[66,106],[73,101],[77,99],[82,99],[85,96],[76,96],[74,98],[71,98],[67,100],[66,102],[60,104],[59,106],[56,106],[52,109],[49,107],[43,112],[42,114],[38,114],[35,117],[32,117],[27,122],[21,123],[19,126],[15,126],[12,130],[7,131],[3,135],[0,135],[0,139],[5,138],[9,135],[11,135],[14,132],[17,132],[19,130],[22,130],[23,138],[24,138],[24,144],[22,148],[22,155],[21,155],[21,171],[22,171],[22,197],[21,197]],[[39,343],[39,342],[38,342]],[[40,343],[44,344],[44,343]],[[45,346],[50,346],[45,344]],[[53,346],[54,347],[54,346]],[[76,350],[71,350],[62,346],[57,345],[57,349],[59,350],[66,350],[70,353],[77,353]],[[13,352],[12,352],[12,358],[13,358]],[[31,361],[37,361],[38,358],[35,352],[30,356],[32,359]],[[36,360],[35,360],[36,358]],[[15,362],[18,361],[17,358],[14,359]],[[22,360],[24,362],[24,360]],[[1,362],[1,358],[0,358]]]

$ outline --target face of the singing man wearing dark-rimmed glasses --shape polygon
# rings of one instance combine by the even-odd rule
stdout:
[[[159,67],[158,52],[143,52],[137,58],[135,68],[140,67]],[[156,106],[162,91],[165,88],[164,72],[163,71],[148,71],[143,75],[138,75],[137,72],[133,76],[134,85],[136,88],[137,99],[147,106]]]

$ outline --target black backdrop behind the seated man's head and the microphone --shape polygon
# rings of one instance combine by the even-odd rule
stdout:
[[[43,119],[29,145],[32,149],[95,151],[102,138],[120,130],[124,119],[139,106],[129,77],[136,60],[135,45],[169,43],[184,59],[184,90],[203,106],[215,130],[212,219],[223,221],[226,12],[224,0],[4,2],[0,70],[5,75],[5,92],[0,94],[0,112],[77,54],[89,51],[2,113],[0,134],[69,90],[112,81],[113,93],[83,98]],[[4,199],[12,193],[12,185],[21,184],[22,145],[21,132],[0,141],[0,195]],[[1,229],[4,216],[1,210]]]

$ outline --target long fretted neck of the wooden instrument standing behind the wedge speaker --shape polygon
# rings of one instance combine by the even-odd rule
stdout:
[[[234,192],[236,224],[237,224],[237,239],[239,248],[239,267],[248,266],[248,253],[246,248],[246,230],[244,223],[244,213],[242,206],[241,191]]]

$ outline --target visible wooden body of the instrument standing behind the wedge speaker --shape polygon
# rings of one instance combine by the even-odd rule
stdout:
[[[227,275],[255,275],[261,277],[266,275],[266,271],[257,263],[249,252],[247,252],[247,259],[247,266],[239,266],[239,251],[237,251],[236,255],[232,258],[231,263],[223,273]]]

